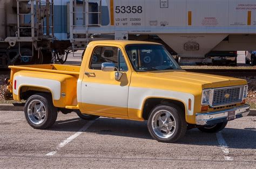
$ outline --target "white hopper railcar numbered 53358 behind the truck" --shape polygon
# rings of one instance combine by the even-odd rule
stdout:
[[[210,51],[256,48],[256,0],[70,0],[68,8],[74,47],[86,45],[86,34],[150,35],[185,62],[207,61]]]

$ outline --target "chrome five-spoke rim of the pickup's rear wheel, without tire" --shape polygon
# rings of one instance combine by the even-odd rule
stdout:
[[[43,102],[33,100],[28,105],[28,117],[33,124],[42,124],[46,117],[46,109]]]

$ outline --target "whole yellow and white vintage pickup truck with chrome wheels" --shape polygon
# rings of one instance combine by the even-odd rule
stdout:
[[[93,41],[81,66],[9,66],[7,100],[26,100],[26,121],[49,128],[58,111],[147,121],[151,136],[176,142],[187,129],[218,132],[247,116],[246,80],[186,72],[163,45]]]

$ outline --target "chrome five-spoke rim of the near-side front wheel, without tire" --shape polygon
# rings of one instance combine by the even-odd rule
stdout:
[[[169,138],[176,131],[176,120],[167,110],[158,110],[151,122],[154,133],[160,138]]]

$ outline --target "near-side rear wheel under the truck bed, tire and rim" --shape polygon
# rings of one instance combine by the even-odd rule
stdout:
[[[43,116],[40,115],[40,118],[42,119],[42,121],[38,122],[38,124],[36,123],[36,121],[39,121],[39,118],[37,117],[37,115],[38,115],[37,112],[35,112],[35,107],[31,109],[32,104],[35,104],[37,107],[37,105],[38,105],[37,102],[39,103],[39,105],[41,105],[41,103],[43,104],[43,108],[41,108],[41,110],[42,110],[41,112],[45,111],[45,113],[43,113],[45,115],[43,115]],[[34,111],[35,114],[32,115],[33,113],[31,111]],[[40,112],[40,110],[39,110],[39,112]],[[57,115],[58,115],[57,108],[54,107],[54,105],[52,103],[51,95],[45,94],[45,93],[39,93],[39,94],[30,96],[25,103],[24,113],[25,113],[26,121],[34,129],[50,128],[56,122]]]

